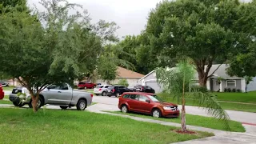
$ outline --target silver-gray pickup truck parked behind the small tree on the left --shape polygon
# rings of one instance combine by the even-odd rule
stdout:
[[[22,98],[21,96],[18,96],[19,93],[23,94]],[[30,93],[25,87],[14,88],[9,99],[14,103],[14,106],[22,107],[28,104],[32,107]],[[40,93],[38,98],[38,108],[49,104],[60,106],[62,109],[77,106],[77,110],[85,110],[87,106],[90,106],[92,99],[93,94],[73,90],[72,87],[66,83],[58,86],[50,85]]]

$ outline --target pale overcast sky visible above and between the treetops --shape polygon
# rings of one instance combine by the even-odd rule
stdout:
[[[250,1],[250,0],[242,0]],[[28,0],[30,6],[38,6],[39,0]],[[161,0],[69,0],[83,6],[89,11],[92,22],[104,19],[116,22],[120,29],[118,37],[140,34],[146,25],[146,18],[151,9],[154,9]],[[40,7],[39,7],[40,8]]]

